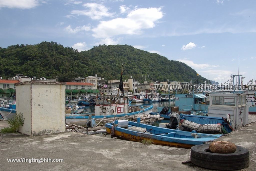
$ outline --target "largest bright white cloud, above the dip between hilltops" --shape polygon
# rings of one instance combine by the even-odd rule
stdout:
[[[126,18],[101,21],[93,28],[92,36],[107,38],[116,35],[138,35],[142,29],[155,27],[155,22],[163,17],[161,8],[138,8],[128,13]]]

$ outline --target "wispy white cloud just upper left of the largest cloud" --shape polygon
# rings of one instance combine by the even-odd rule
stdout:
[[[72,10],[71,14],[86,15],[94,20],[99,20],[102,17],[113,17],[114,15],[114,13],[109,13],[108,8],[102,4],[86,3],[83,6],[89,8],[89,10]]]

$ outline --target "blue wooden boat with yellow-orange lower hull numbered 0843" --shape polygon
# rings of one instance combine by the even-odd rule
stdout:
[[[188,132],[146,125],[140,123],[140,119],[137,120],[137,123],[129,121],[128,128],[132,126],[135,126],[135,128],[144,128],[145,132],[129,130],[116,126],[117,124],[117,120],[115,120],[115,123],[106,123],[106,132],[124,140],[135,142],[152,140],[156,145],[179,148],[191,148],[194,145],[204,144],[205,142],[215,140],[221,136],[221,134],[202,134],[196,133],[196,131]],[[111,130],[114,130],[114,132],[111,132]]]

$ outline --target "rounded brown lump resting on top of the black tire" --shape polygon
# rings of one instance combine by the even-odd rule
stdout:
[[[209,145],[209,149],[212,153],[234,153],[237,149],[234,143],[228,141],[215,141]]]

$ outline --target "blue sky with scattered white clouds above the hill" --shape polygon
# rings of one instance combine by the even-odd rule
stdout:
[[[256,79],[255,0],[0,0],[0,17],[2,48],[127,44],[210,80],[224,83],[238,71],[244,81]]]

